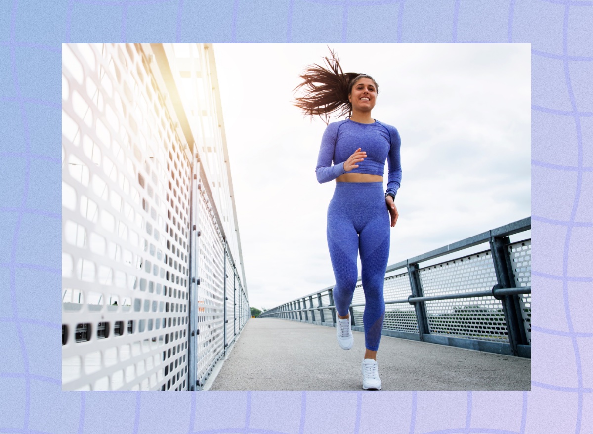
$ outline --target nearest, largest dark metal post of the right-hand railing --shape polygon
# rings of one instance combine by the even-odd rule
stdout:
[[[500,288],[515,288],[515,279],[512,277],[511,259],[506,254],[505,244],[509,244],[509,237],[490,238],[490,251],[492,252],[492,263],[496,272],[496,282]],[[506,330],[511,344],[512,355],[518,356],[518,344],[527,343],[525,328],[522,327],[521,307],[517,295],[503,295],[502,311],[505,315]],[[521,321],[519,321],[521,318]]]

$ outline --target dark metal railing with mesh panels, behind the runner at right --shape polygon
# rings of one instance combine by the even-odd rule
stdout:
[[[530,217],[388,266],[382,334],[530,358],[531,239],[509,239],[529,229]],[[420,267],[486,242],[489,250]],[[350,305],[353,330],[364,330],[364,306],[359,277]],[[330,286],[259,318],[334,327],[335,309]]]

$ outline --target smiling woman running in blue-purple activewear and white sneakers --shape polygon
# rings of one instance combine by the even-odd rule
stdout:
[[[327,244],[336,277],[333,298],[337,342],[345,350],[354,342],[349,308],[358,279],[356,259],[360,252],[366,347],[362,388],[380,390],[377,350],[385,313],[383,283],[390,225],[395,226],[398,218],[394,199],[401,181],[400,136],[393,126],[371,117],[377,101],[377,82],[366,74],[344,74],[334,53],[331,59],[324,59],[327,68],[311,65],[301,74],[303,82],[295,90],[304,88],[305,95],[296,98],[295,105],[311,117],[324,117],[326,123],[332,112],[349,115],[327,126],[315,173],[320,183],[336,180],[327,209]]]

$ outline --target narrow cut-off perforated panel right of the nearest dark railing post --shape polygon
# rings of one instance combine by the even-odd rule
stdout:
[[[531,286],[531,240],[516,242],[509,245],[508,249],[515,286],[517,288]],[[531,294],[519,295],[519,304],[521,304],[525,336],[531,344]]]

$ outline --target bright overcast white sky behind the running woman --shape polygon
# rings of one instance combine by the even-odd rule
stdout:
[[[345,72],[375,78],[372,116],[400,132],[390,264],[531,215],[529,44],[330,47]],[[329,50],[214,51],[250,305],[272,308],[334,284],[326,215],[335,183],[315,178],[326,125],[291,104],[299,73]]]

